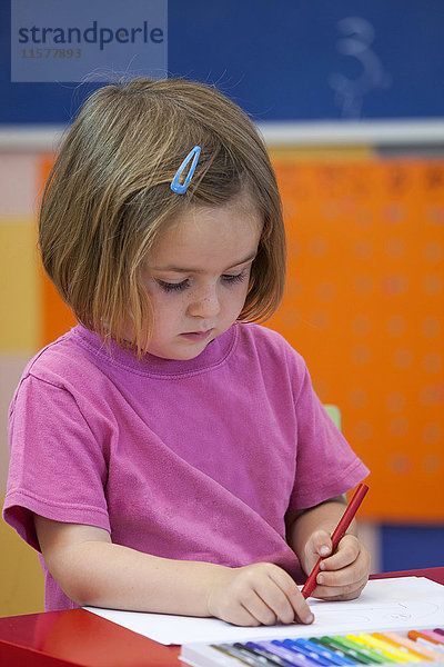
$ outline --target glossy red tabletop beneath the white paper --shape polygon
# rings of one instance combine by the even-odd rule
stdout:
[[[372,578],[407,576],[444,585],[444,567]],[[179,650],[84,609],[0,618],[1,667],[178,667]]]

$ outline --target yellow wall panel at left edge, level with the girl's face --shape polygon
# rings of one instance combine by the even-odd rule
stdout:
[[[32,216],[0,218],[0,349],[37,351],[40,290]]]

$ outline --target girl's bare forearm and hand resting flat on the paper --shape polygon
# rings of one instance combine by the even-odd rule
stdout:
[[[159,558],[112,544],[101,528],[38,515],[34,524],[51,575],[78,605],[215,616],[242,626],[313,620],[293,579],[275,565]]]

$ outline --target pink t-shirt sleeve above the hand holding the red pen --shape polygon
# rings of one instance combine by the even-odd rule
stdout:
[[[313,507],[344,494],[370,474],[326,414],[301,358],[297,366],[297,455],[291,509]]]

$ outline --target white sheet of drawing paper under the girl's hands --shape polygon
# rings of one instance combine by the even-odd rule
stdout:
[[[310,626],[292,624],[258,628],[232,626],[216,618],[84,608],[165,645],[444,626],[444,586],[425,577],[374,579],[369,581],[356,600],[325,603],[309,598],[309,604],[315,615]]]

